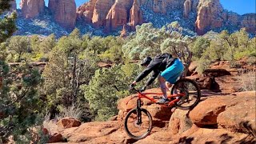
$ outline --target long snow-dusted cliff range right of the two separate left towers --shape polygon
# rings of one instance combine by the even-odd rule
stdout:
[[[135,30],[136,25],[142,22],[151,22],[147,18],[161,17],[182,11],[182,21],[193,20],[194,30],[198,34],[205,34],[209,30],[222,29],[225,26],[233,26],[238,30],[246,27],[246,30],[255,33],[255,15],[238,15],[224,10],[219,0],[90,0],[79,6],[77,15],[86,23],[91,23],[98,28],[103,26],[106,31],[116,30],[127,25],[129,30]],[[154,14],[148,11],[154,12]],[[192,15],[191,15],[192,14]],[[174,16],[169,16],[174,17]],[[175,16],[176,17],[176,16]],[[180,16],[178,16],[180,17]],[[166,17],[162,17],[168,18]],[[177,18],[174,18],[177,20]],[[195,20],[194,20],[195,19]],[[170,21],[172,22],[172,21]],[[164,25],[165,22],[162,22]]]

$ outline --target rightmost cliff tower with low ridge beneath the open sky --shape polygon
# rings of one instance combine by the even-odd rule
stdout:
[[[205,34],[209,30],[222,26],[233,26],[237,29],[246,27],[246,30],[255,34],[256,14],[239,15],[222,8],[219,0],[200,0],[195,29],[198,34]]]

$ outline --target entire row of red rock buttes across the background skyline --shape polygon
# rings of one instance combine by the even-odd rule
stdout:
[[[45,11],[44,0],[22,0],[20,6],[24,18],[35,18]],[[250,33],[256,33],[256,14],[239,15],[229,12],[223,9],[219,0],[90,0],[78,9],[74,0],[49,1],[49,9],[60,26],[74,29],[77,20],[82,19],[82,22],[95,28],[104,27],[106,32],[122,26],[135,30],[135,26],[146,22],[143,18],[146,12],[142,7],[152,10],[155,14],[182,10],[185,20],[191,18],[192,13],[196,14],[193,16],[194,30],[198,34],[226,26],[246,27]]]

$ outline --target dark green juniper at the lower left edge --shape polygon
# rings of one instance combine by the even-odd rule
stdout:
[[[42,124],[38,94],[42,78],[26,64],[10,69],[5,62],[0,62],[0,78],[0,143],[7,142],[10,135],[15,142],[30,142],[32,128]]]

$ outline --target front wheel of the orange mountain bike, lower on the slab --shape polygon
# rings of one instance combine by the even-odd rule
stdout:
[[[152,117],[146,109],[134,108],[125,118],[125,130],[130,138],[146,138],[152,130]]]

